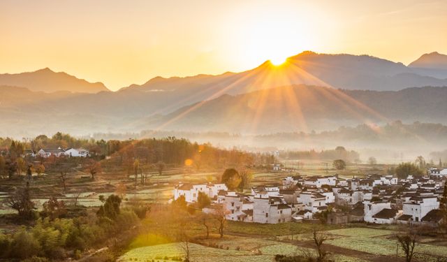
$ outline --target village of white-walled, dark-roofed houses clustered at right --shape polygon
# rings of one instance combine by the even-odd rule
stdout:
[[[315,221],[325,212],[329,224],[439,224],[443,219],[439,203],[446,178],[289,176],[281,184],[252,187],[247,194],[230,191],[225,184],[177,184],[174,199],[184,196],[186,202],[194,203],[202,191],[212,199],[212,206],[203,212],[213,212],[213,205],[223,205],[226,219],[233,221]]]

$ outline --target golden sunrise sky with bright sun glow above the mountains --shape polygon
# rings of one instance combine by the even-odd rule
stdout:
[[[0,1],[0,73],[49,67],[117,90],[305,50],[447,54],[447,1]]]

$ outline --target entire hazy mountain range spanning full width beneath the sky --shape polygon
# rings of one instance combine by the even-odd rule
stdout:
[[[0,75],[0,136],[145,129],[265,134],[406,122],[447,124],[446,55],[405,66],[302,52],[241,73],[152,78],[108,92],[48,68]]]

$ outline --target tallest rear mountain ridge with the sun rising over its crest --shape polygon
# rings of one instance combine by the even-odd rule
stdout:
[[[221,94],[243,94],[286,85],[319,85],[342,89],[400,90],[406,87],[447,85],[447,71],[410,68],[402,63],[368,55],[317,54],[302,52],[289,57],[281,66],[265,61],[241,73],[196,75],[186,78],[153,78],[142,85],[131,85],[145,92],[177,92],[196,101]],[[193,99],[189,99],[193,101]]]

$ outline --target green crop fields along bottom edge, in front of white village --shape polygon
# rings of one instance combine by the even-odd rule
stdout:
[[[191,261],[274,261],[276,254],[314,255],[310,224],[260,225],[229,222],[228,233],[220,239],[213,235],[210,240],[200,244],[191,244]],[[284,226],[285,225],[285,226]],[[259,231],[254,231],[259,227]],[[293,228],[297,234],[288,235],[286,228]],[[332,227],[333,228],[333,227]],[[396,228],[380,227],[345,227],[323,228],[328,236],[324,249],[330,252],[334,261],[403,261],[404,254],[398,249],[394,238]],[[237,232],[237,233],[236,233]],[[273,232],[275,232],[273,234]],[[302,233],[298,233],[302,232]],[[415,261],[447,261],[447,245],[439,240],[420,239],[415,249]],[[430,243],[429,243],[430,242]],[[216,248],[217,247],[217,248]],[[168,243],[131,249],[119,261],[174,261],[184,256],[182,243]]]

